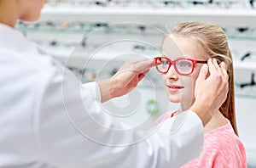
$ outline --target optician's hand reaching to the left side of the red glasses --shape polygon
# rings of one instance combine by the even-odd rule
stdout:
[[[131,92],[152,66],[154,66],[154,59],[127,61],[113,77],[98,81],[102,103]]]

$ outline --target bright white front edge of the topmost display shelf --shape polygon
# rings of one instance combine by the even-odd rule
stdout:
[[[201,9],[201,10],[198,10]],[[56,8],[47,7],[42,14],[88,14],[88,15],[184,15],[184,16],[229,16],[229,17],[254,17],[256,11],[253,9],[210,9],[210,8]]]

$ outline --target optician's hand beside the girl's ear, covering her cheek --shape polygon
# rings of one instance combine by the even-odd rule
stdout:
[[[191,110],[195,111],[205,126],[212,115],[224,103],[229,92],[229,76],[227,67],[216,59],[209,59],[204,64],[195,83],[195,103]]]

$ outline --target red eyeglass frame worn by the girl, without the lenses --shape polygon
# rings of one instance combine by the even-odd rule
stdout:
[[[159,70],[158,68],[158,64],[157,64],[157,61],[158,59],[167,59],[168,60],[168,63],[169,63],[169,67],[167,68],[166,71],[162,71],[162,70]],[[154,65],[155,65],[155,68],[157,71],[159,71],[161,74],[167,74],[167,72],[170,70],[172,64],[174,66],[174,70],[177,72],[177,74],[181,75],[181,76],[189,76],[190,74],[193,73],[194,69],[195,69],[195,64],[207,64],[207,61],[202,61],[202,60],[195,60],[195,59],[186,59],[186,60],[189,60],[192,62],[193,64],[193,67],[192,67],[192,70],[189,74],[183,74],[183,73],[180,73],[178,70],[177,70],[177,67],[176,67],[176,62],[178,60],[181,60],[181,59],[185,59],[185,58],[179,58],[179,59],[175,59],[175,60],[172,60],[172,59],[169,59],[167,57],[163,57],[163,56],[160,56],[160,57],[154,57]],[[171,64],[170,64],[171,63]]]

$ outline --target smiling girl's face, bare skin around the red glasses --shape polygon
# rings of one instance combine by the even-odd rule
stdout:
[[[173,43],[174,42],[174,43]],[[173,47],[176,44],[176,48]],[[179,50],[177,52],[177,50]],[[164,57],[171,59],[185,58],[207,60],[206,52],[199,44],[189,41],[189,38],[177,35],[167,36],[162,45]],[[187,76],[179,75],[173,64],[163,75],[167,96],[172,103],[181,103],[184,108],[189,108],[195,102],[195,81],[199,75],[202,64],[195,64],[194,71]]]

